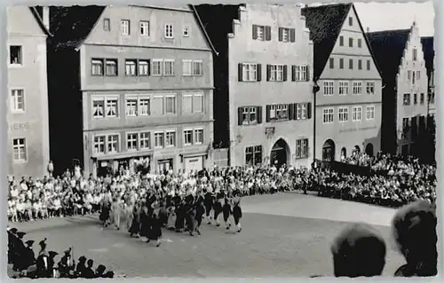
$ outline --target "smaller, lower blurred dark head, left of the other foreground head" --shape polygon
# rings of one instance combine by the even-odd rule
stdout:
[[[381,275],[385,266],[385,240],[368,224],[351,224],[331,245],[336,277]]]

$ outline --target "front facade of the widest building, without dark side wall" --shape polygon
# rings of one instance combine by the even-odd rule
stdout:
[[[80,46],[85,173],[211,166],[212,51],[189,6],[108,6]]]

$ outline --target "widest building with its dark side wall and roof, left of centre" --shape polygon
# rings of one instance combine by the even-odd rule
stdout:
[[[54,159],[99,175],[211,165],[215,50],[193,6],[59,7],[52,21]]]

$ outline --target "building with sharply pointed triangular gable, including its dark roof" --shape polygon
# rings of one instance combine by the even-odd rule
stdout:
[[[374,155],[381,145],[382,80],[353,4],[303,9],[314,43],[315,158]]]

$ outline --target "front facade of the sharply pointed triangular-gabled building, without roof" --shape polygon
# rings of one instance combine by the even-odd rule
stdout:
[[[353,5],[317,81],[316,156],[340,161],[381,145],[382,79]]]

